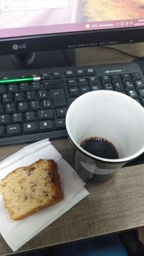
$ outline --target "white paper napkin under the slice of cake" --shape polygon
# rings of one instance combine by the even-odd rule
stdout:
[[[56,161],[64,199],[26,219],[13,221],[4,207],[0,194],[0,232],[13,251],[18,250],[37,233],[88,195],[88,191],[84,188],[84,181],[79,178],[70,164],[62,158],[56,148],[51,145],[49,139],[28,145],[2,161],[0,163],[0,179],[12,170],[21,166],[29,166],[40,158]]]

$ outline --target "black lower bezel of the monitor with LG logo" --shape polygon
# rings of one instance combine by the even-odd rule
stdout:
[[[144,42],[144,27],[29,35],[0,38],[0,55],[140,42]]]

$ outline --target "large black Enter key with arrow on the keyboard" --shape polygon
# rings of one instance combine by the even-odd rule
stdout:
[[[55,107],[67,107],[65,91],[63,88],[51,89],[50,93],[52,100],[54,100]]]

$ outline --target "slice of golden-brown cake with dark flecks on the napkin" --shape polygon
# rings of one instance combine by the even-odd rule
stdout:
[[[57,164],[40,159],[31,166],[13,170],[0,180],[5,208],[14,220],[24,219],[63,199]]]

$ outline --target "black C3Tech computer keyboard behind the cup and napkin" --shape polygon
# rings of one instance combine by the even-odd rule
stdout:
[[[134,63],[0,73],[1,79],[27,76],[41,81],[0,85],[0,146],[66,137],[68,107],[92,90],[126,93],[144,106],[144,79]]]

